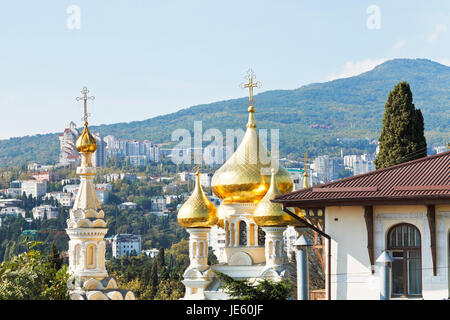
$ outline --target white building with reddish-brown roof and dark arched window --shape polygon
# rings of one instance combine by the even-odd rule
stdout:
[[[380,299],[377,258],[393,261],[390,299],[450,296],[450,152],[333,181],[276,202],[305,210],[331,237],[331,299]]]

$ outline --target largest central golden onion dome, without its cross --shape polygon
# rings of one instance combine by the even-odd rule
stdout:
[[[211,181],[214,194],[225,203],[260,201],[270,186],[270,161],[263,164],[261,155],[268,152],[260,143],[253,106],[248,108],[247,131],[234,154],[220,167]],[[267,161],[266,161],[267,162]],[[289,172],[279,166],[275,174],[281,193],[291,192],[294,182]]]

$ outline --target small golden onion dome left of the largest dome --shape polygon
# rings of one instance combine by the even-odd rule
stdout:
[[[203,192],[200,173],[194,191],[178,210],[178,224],[185,228],[209,228],[217,223],[217,209]]]

